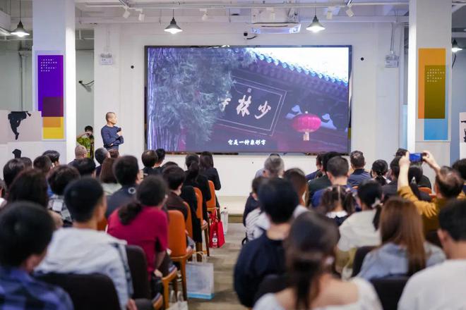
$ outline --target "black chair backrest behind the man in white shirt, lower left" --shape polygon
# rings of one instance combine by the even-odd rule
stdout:
[[[117,290],[107,275],[47,273],[36,278],[64,289],[70,295],[75,310],[121,309]]]

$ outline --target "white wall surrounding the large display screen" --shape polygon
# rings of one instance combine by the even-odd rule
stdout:
[[[183,24],[179,35],[163,32],[165,25],[114,24],[95,27],[95,54],[111,52],[113,66],[100,66],[95,58],[95,127],[104,125],[104,114],[114,111],[123,128],[122,154],[140,157],[144,149],[145,45],[299,45],[349,44],[352,57],[352,149],[364,151],[366,161],[390,161],[398,148],[399,70],[386,69],[384,56],[390,51],[390,25],[328,23],[318,35],[303,30],[297,35],[261,35],[247,41],[247,25],[234,23]],[[395,42],[400,40],[400,28]],[[399,46],[400,44],[395,44]],[[397,54],[399,51],[397,49]],[[364,61],[361,60],[364,58]],[[131,68],[133,66],[133,68]],[[96,135],[97,147],[102,145]],[[265,154],[215,156],[223,186],[220,195],[244,196]],[[169,156],[182,165],[184,156]],[[286,155],[287,168],[314,170],[313,156]]]

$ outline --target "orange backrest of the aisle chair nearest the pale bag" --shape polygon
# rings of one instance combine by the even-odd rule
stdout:
[[[172,256],[183,256],[187,247],[183,213],[169,210],[168,218],[168,247],[172,250]]]

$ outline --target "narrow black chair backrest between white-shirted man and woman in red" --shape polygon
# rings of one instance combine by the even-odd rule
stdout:
[[[133,279],[133,299],[150,299],[148,263],[143,249],[137,245],[126,245],[126,256]]]

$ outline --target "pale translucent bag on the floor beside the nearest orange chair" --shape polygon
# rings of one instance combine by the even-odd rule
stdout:
[[[205,254],[201,254],[201,262],[188,261],[186,263],[186,282],[189,298],[212,299],[214,295],[213,263],[205,262]],[[193,255],[196,259],[197,255]]]

